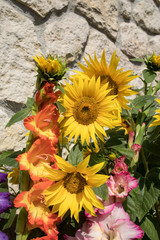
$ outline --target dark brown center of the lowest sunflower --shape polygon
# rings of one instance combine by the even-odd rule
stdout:
[[[70,193],[80,193],[87,185],[85,178],[79,172],[67,173],[64,177],[64,188]]]

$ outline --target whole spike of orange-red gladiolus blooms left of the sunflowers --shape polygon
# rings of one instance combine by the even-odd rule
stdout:
[[[47,239],[58,239],[56,224],[60,221],[49,210],[43,196],[43,190],[52,182],[42,177],[46,166],[52,164],[52,169],[58,169],[54,154],[57,153],[59,137],[59,112],[54,103],[60,92],[54,93],[53,87],[54,84],[46,83],[37,92],[37,114],[24,119],[24,126],[30,130],[32,144],[16,160],[20,170],[28,171],[31,182],[28,186],[30,189],[22,191],[14,200],[15,207],[24,207],[28,212],[27,231],[38,227],[47,235]]]

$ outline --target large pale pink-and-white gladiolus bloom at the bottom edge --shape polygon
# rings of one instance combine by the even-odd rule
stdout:
[[[143,237],[142,229],[130,221],[122,203],[114,203],[114,208],[107,214],[89,217],[75,237],[65,236],[67,240],[136,240]]]

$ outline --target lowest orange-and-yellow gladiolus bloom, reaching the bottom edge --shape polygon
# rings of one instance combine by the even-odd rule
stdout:
[[[44,203],[42,192],[53,182],[39,182],[29,190],[21,192],[14,200],[15,207],[24,207],[28,212],[28,230],[40,228],[46,233],[48,238],[58,240],[58,230],[56,224],[60,222],[57,214],[52,214]],[[52,237],[52,238],[50,238]]]

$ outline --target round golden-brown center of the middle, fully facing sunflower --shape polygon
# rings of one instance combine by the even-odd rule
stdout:
[[[83,125],[93,123],[98,116],[98,107],[94,98],[82,97],[74,104],[73,109],[75,120]]]

